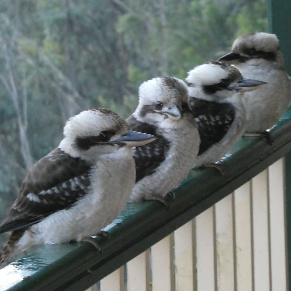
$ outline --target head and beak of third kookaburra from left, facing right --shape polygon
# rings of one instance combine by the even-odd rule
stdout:
[[[222,101],[237,92],[252,91],[266,82],[244,79],[234,66],[209,62],[195,67],[186,78],[189,98]]]

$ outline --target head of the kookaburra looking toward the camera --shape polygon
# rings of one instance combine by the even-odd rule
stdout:
[[[139,87],[139,104],[134,117],[139,121],[160,125],[176,122],[183,116],[187,104],[187,85],[175,77],[157,77]]]

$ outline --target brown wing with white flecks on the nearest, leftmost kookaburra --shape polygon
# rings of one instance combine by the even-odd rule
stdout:
[[[91,164],[56,148],[30,169],[0,233],[25,228],[74,204],[90,185]]]

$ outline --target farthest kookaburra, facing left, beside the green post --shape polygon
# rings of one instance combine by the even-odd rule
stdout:
[[[246,92],[246,136],[264,135],[287,110],[291,99],[290,77],[275,34],[252,32],[239,36],[231,52],[220,62],[234,65],[244,77],[268,83],[254,92]]]

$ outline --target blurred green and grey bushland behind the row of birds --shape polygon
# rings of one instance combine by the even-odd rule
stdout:
[[[127,117],[143,81],[184,79],[250,31],[267,31],[266,0],[1,0],[0,220],[68,117]]]

